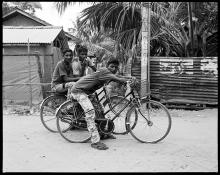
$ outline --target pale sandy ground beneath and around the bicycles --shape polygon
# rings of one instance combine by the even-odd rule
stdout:
[[[105,140],[108,150],[69,143],[38,114],[3,113],[3,172],[218,172],[218,109],[170,110],[170,134],[157,144],[128,135]]]

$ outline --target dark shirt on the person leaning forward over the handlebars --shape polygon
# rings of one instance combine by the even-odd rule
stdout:
[[[88,74],[78,80],[72,87],[71,91],[73,93],[84,92],[89,95],[101,88],[108,81],[115,79],[116,76],[107,68],[101,68],[98,71]]]

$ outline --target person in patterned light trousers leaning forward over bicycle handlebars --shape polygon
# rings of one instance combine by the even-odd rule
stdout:
[[[107,62],[106,68],[101,68],[97,72],[82,77],[71,88],[71,96],[78,101],[86,113],[85,120],[91,135],[91,146],[95,149],[105,150],[108,149],[108,147],[100,142],[100,135],[95,125],[95,110],[88,95],[93,94],[109,81],[126,83],[132,79],[132,77],[115,75],[118,71],[118,67],[119,61],[111,57]]]

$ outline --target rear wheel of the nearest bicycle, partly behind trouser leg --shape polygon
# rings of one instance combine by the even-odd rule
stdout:
[[[90,140],[81,106],[68,100],[56,112],[57,129],[61,136],[71,143],[84,143]]]

